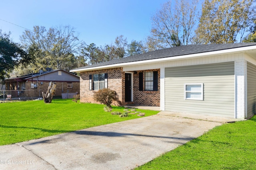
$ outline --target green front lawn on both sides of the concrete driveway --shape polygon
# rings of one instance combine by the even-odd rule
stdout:
[[[136,119],[103,111],[104,105],[70,99],[0,103],[0,145],[37,139],[78,129]],[[124,107],[113,107],[123,111]],[[137,109],[138,111],[142,111]],[[146,116],[158,111],[143,111]],[[224,124],[201,137],[137,168],[138,170],[251,170],[256,169],[256,116]]]

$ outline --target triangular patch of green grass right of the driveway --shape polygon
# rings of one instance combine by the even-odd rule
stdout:
[[[255,170],[256,116],[224,124],[136,170]]]

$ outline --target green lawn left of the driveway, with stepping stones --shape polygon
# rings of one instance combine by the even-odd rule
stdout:
[[[0,145],[140,118],[136,114],[119,117],[103,108],[104,105],[76,103],[71,99],[54,99],[50,104],[42,100],[0,103]],[[123,110],[124,107],[113,106],[112,111]],[[150,116],[159,111],[143,112]]]

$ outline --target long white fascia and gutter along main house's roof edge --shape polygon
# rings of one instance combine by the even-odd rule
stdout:
[[[180,59],[209,57],[209,56],[213,56],[213,55],[225,55],[227,53],[232,54],[232,53],[240,53],[240,52],[249,52],[251,50],[255,51],[256,45],[247,46],[247,47],[238,47],[238,48],[232,48],[232,49],[225,49],[225,50],[218,50],[218,51],[210,51],[210,52],[205,52],[205,53],[195,53],[195,54],[180,55],[180,56],[174,56],[174,57],[164,57],[164,58],[159,58],[159,59],[131,61],[128,63],[126,62],[126,63],[117,63],[117,64],[110,64],[110,65],[104,65],[104,66],[89,67],[89,68],[77,68],[77,69],[70,70],[70,72],[83,72],[83,71],[101,70],[101,69],[107,69],[107,68],[116,68],[116,67],[129,66],[129,65],[161,63],[161,62],[174,61],[174,60],[180,60]]]

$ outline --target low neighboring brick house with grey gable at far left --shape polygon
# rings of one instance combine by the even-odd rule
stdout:
[[[42,97],[42,92],[46,93],[50,82],[55,82],[55,96],[63,96],[62,93],[79,93],[79,77],[62,69],[50,70],[28,74],[20,77],[5,79],[6,90],[17,90],[13,97],[19,97],[23,90],[33,90],[35,97]],[[12,94],[13,95],[13,94]],[[67,97],[66,97],[67,98]]]

